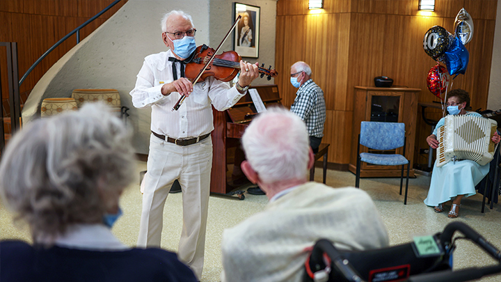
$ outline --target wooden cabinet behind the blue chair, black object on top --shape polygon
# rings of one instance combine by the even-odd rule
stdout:
[[[388,123],[405,123],[406,125],[406,152],[405,157],[410,160],[410,176],[414,176],[412,169],[414,157],[414,140],[416,135],[416,118],[418,93],[417,88],[381,88],[355,86],[353,103],[353,133],[351,140],[351,157],[349,171],[356,173],[356,153],[360,122],[382,121]],[[403,153],[398,148],[397,154]],[[367,148],[360,146],[360,152],[367,152]],[[391,152],[390,152],[391,153]],[[392,152],[395,153],[395,152]],[[360,177],[400,177],[401,166],[377,166],[362,163]],[[405,172],[404,172],[405,174]]]

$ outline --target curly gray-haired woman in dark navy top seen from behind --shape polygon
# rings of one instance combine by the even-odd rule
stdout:
[[[0,194],[33,244],[0,242],[0,281],[196,281],[175,253],[111,233],[133,180],[131,133],[102,104],[41,118],[10,140]]]

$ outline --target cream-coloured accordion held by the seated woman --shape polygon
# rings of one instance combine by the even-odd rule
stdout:
[[[494,158],[491,140],[498,127],[495,120],[481,116],[446,116],[438,128],[437,167],[450,161],[470,159],[484,166]]]

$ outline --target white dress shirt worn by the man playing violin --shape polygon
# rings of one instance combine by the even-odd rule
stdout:
[[[178,111],[172,111],[180,93],[164,96],[161,87],[173,81],[173,52],[161,52],[145,58],[137,75],[136,86],[130,92],[134,107],[152,108],[151,130],[176,139],[198,137],[214,130],[212,107],[224,111],[232,107],[245,94],[230,88],[228,82],[207,77],[193,86],[193,93],[186,97]],[[180,63],[176,63],[180,74]]]

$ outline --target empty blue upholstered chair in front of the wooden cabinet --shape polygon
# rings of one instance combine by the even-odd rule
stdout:
[[[366,162],[378,166],[401,166],[400,195],[402,182],[404,181],[404,166],[409,164],[405,155],[405,124],[404,123],[380,123],[376,121],[363,121],[360,124],[358,134],[357,167],[355,187],[360,185],[360,164]],[[394,150],[404,147],[404,155],[388,154],[385,152],[360,152],[360,145],[372,150]],[[404,205],[407,204],[409,165],[407,166],[407,181]]]

